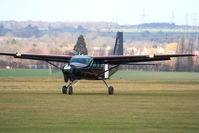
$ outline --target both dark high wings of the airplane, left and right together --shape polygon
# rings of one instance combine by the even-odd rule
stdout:
[[[20,53],[0,53],[0,55],[13,56],[21,59],[55,61],[68,63],[72,56],[69,55],[47,55],[47,54],[20,54]],[[197,56],[196,54],[164,54],[164,55],[111,55],[111,56],[92,56],[94,61],[101,64],[128,65],[135,62],[149,62],[170,60],[172,57]]]

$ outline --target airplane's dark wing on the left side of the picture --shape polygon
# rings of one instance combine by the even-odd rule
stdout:
[[[15,58],[55,61],[68,63],[72,56],[69,55],[48,55],[48,54],[20,54],[20,53],[0,53],[0,55],[13,56]]]

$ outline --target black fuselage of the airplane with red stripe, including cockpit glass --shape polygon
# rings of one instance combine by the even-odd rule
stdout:
[[[108,79],[118,70],[118,67],[111,70],[109,68],[109,64],[97,62],[90,56],[78,55],[70,59],[62,72],[66,82],[81,79],[102,80]]]

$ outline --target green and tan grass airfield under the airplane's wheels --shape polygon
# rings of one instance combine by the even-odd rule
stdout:
[[[199,132],[199,79],[115,78],[108,83],[114,95],[102,81],[82,80],[69,96],[61,94],[59,77],[2,77],[0,132]]]

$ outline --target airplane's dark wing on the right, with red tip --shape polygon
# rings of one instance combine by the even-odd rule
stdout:
[[[134,62],[149,62],[170,60],[172,57],[197,56],[196,54],[163,54],[163,55],[112,55],[112,56],[94,56],[94,61],[101,64],[128,65]]]

